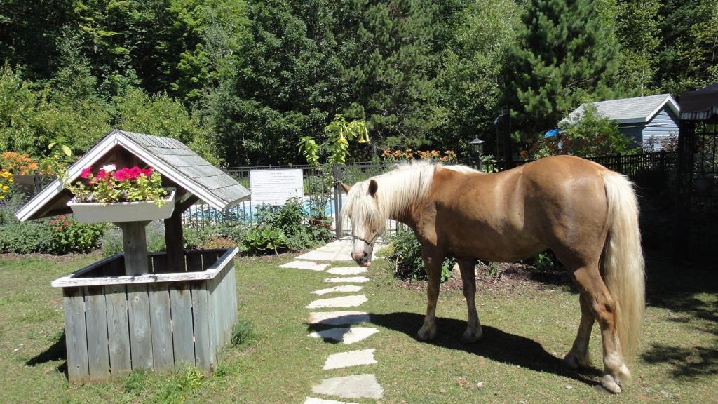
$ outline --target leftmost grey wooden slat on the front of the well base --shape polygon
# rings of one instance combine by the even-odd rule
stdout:
[[[90,377],[87,330],[85,329],[85,299],[80,288],[67,288],[62,292],[62,308],[65,311],[67,379],[70,382],[81,382]]]

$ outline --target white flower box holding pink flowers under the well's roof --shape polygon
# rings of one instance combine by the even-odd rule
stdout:
[[[80,223],[118,223],[121,221],[151,221],[167,219],[174,211],[174,188],[167,190],[169,195],[164,198],[167,203],[157,206],[154,201],[140,202],[75,202],[73,198],[67,206],[73,210],[75,219]]]

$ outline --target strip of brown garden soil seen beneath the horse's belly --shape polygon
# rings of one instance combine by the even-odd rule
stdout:
[[[569,276],[564,270],[537,270],[531,265],[502,262],[498,272],[490,274],[488,267],[479,264],[475,268],[477,290],[491,292],[516,293],[523,290],[544,290],[556,287],[568,287]],[[403,288],[426,290],[426,280],[398,280]],[[440,290],[462,290],[462,280],[458,269],[452,277],[442,283]]]

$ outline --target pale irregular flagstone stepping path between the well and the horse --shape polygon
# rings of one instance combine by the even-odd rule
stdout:
[[[297,268],[302,270],[324,271],[329,264],[317,264],[308,260],[347,260],[351,251],[350,240],[340,240],[335,242],[335,246],[329,246],[317,249],[302,255],[300,260],[289,262],[281,265],[283,268]],[[348,250],[348,251],[345,251]],[[340,254],[341,252],[341,254]],[[301,261],[301,259],[307,261]],[[326,278],[327,283],[365,283],[369,278],[365,276],[343,276],[343,275],[359,275],[367,272],[364,267],[331,267],[326,272],[332,275],[342,275],[340,277]],[[314,290],[314,295],[326,295],[328,293],[357,293],[362,290],[360,285],[337,285],[331,288]],[[339,295],[331,298],[321,298],[313,300],[307,304],[309,309],[317,308],[350,308],[358,307],[366,303],[368,298],[364,294],[360,295]],[[315,339],[322,339],[320,344],[327,342],[341,342],[342,344],[355,344],[368,339],[373,334],[379,332],[373,327],[357,326],[357,324],[368,323],[370,321],[369,314],[365,311],[313,311],[309,313],[308,323],[311,325],[328,325],[335,326],[330,329],[322,329],[312,331],[307,336]],[[307,397],[304,404],[356,404],[345,401],[332,400],[331,398],[365,398],[379,400],[383,397],[384,389],[376,380],[376,375],[363,373],[377,361],[374,359],[375,349],[364,348],[356,349],[348,352],[337,352],[327,357],[324,370],[327,376],[331,376],[334,369],[361,369],[360,374],[343,376],[343,377],[327,377],[325,380],[314,383],[312,385],[312,393],[315,395],[325,395],[328,398]],[[346,370],[344,371],[346,375]]]

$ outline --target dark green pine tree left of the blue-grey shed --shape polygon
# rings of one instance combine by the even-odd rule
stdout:
[[[618,43],[600,5],[591,0],[528,2],[508,64],[507,91],[524,137],[555,127],[587,98],[611,95]]]

